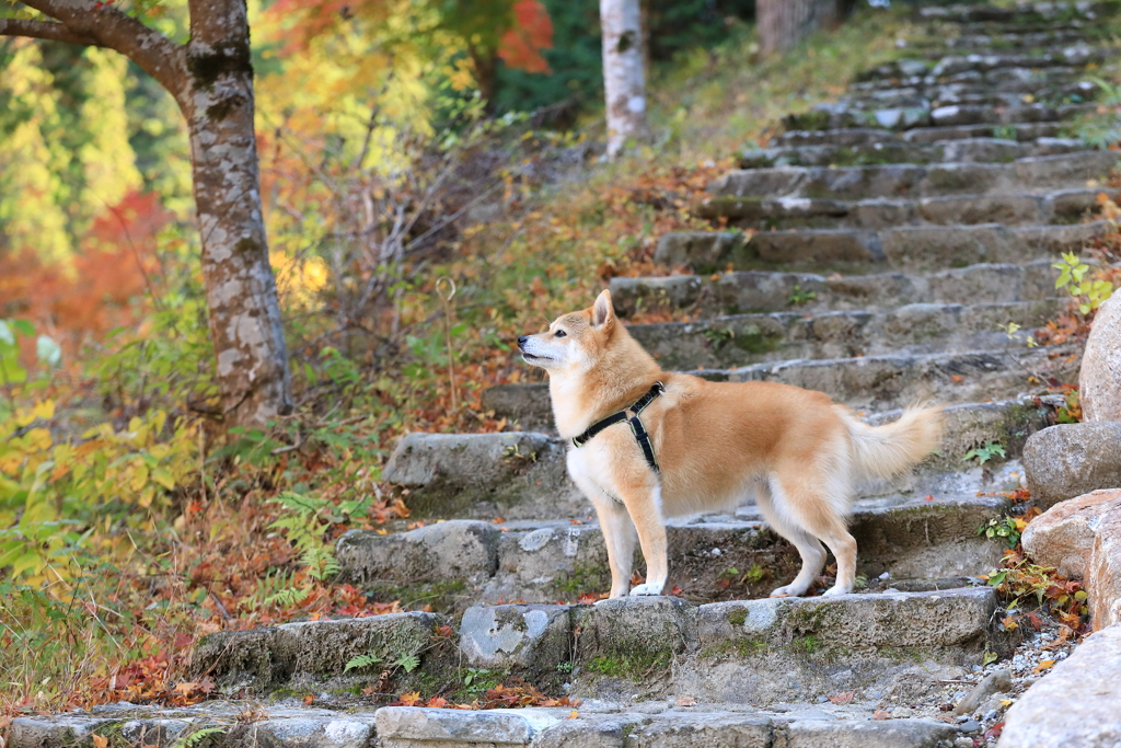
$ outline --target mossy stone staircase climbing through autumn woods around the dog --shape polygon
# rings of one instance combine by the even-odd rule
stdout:
[[[339,542],[346,581],[435,612],[214,634],[193,666],[228,701],[18,718],[9,748],[92,733],[285,748],[985,745],[980,722],[941,709],[1017,646],[979,579],[1002,546],[978,528],[1012,508],[1000,492],[1020,486],[1023,442],[1049,423],[1048,385],[1073,382],[1080,360],[1000,325],[1054,318],[1049,262],[1106,230],[1088,216],[1118,156],[1063,135],[1097,91],[1085,68],[1103,59],[1097,19],[1113,9],[920,6],[929,33],[906,58],[787,118],[772,147],[711,185],[697,211],[725,229],[660,238],[656,260],[677,275],[611,281],[624,317],[694,318],[630,326],[666,369],[822,390],[870,423],[920,399],[948,406],[938,454],[861,488],[856,593],[767,599],[798,558],[745,506],[669,528],[673,595],[581,603],[608,590],[606,552],[547,389],[494,387],[484,407],[525,431],[408,435],[385,477],[425,525]],[[963,460],[990,442],[1003,459]],[[510,676],[583,703],[377,707],[408,691],[470,702]]]

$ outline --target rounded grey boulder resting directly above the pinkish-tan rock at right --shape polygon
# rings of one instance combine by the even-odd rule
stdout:
[[[1103,488],[1121,488],[1121,423],[1060,424],[1023,445],[1023,471],[1036,505],[1047,509]]]

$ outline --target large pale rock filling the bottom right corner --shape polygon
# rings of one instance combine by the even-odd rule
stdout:
[[[1121,626],[1078,645],[1004,715],[999,748],[1121,744]]]

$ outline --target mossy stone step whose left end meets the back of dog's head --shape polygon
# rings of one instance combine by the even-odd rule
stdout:
[[[782,359],[1022,348],[1001,325],[1034,330],[1057,320],[1067,299],[1006,304],[908,304],[887,312],[772,312],[697,322],[631,325],[665,369],[722,369]]]

